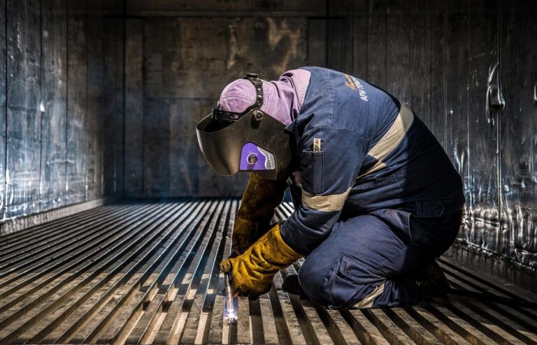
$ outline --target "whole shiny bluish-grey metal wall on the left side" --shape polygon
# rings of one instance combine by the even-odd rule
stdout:
[[[122,1],[0,1],[0,219],[122,194]]]

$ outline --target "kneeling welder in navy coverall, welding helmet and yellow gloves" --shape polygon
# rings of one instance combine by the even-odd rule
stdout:
[[[436,258],[457,237],[461,177],[387,91],[327,68],[275,81],[248,74],[224,88],[196,132],[213,170],[250,172],[232,254],[220,263],[234,293],[257,298],[302,257],[284,288],[333,309],[447,293]],[[294,212],[272,226],[287,188]]]

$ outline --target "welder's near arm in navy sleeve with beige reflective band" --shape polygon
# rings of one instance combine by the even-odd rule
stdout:
[[[308,255],[324,240],[348,198],[369,140],[361,133],[317,127],[301,140],[302,205],[282,223],[282,239]]]

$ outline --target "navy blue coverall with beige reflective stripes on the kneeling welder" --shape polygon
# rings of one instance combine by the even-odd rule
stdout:
[[[306,255],[299,282],[327,307],[415,304],[415,270],[459,230],[461,178],[408,108],[368,82],[311,73],[291,136],[295,211],[283,240]]]

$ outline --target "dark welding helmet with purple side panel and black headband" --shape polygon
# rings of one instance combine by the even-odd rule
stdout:
[[[261,110],[263,87],[259,75],[245,79],[255,87],[255,103],[243,112],[214,108],[196,125],[199,147],[210,168],[220,175],[255,171],[266,179],[285,179],[292,159],[285,125]]]

